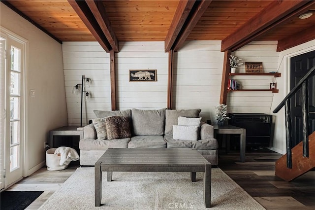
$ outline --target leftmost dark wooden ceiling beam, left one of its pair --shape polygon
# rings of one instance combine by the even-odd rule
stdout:
[[[68,0],[69,4],[72,6],[74,11],[78,14],[80,19],[98,41],[98,43],[102,46],[102,48],[109,53],[112,49],[111,45],[109,44],[106,36],[102,32],[101,28],[99,27],[97,21],[87,3],[83,0]]]

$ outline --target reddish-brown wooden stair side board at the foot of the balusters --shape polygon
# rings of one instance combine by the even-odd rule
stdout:
[[[315,132],[309,136],[309,157],[303,157],[303,142],[292,148],[292,169],[286,167],[286,154],[276,161],[276,176],[291,181],[315,168]]]

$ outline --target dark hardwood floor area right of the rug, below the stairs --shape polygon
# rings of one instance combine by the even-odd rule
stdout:
[[[282,155],[270,150],[219,152],[219,167],[267,210],[315,209],[315,171],[291,182],[275,176],[275,161]]]

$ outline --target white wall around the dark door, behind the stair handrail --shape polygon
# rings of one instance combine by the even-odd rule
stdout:
[[[279,72],[282,73],[282,76],[277,78],[279,94],[274,95],[273,97],[271,111],[273,111],[281,103],[284,97],[290,92],[290,58],[313,50],[315,50],[315,40],[300,44],[298,46],[280,52],[278,66]],[[275,134],[273,141],[274,143],[271,149],[281,154],[285,154],[286,143],[284,107],[274,115],[276,116]]]

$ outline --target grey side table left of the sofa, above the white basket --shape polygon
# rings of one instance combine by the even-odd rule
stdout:
[[[49,132],[49,146],[54,148],[55,136],[79,136],[83,139],[83,128],[79,126],[63,126]]]

